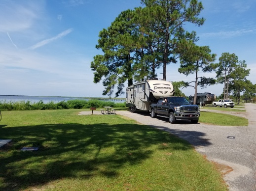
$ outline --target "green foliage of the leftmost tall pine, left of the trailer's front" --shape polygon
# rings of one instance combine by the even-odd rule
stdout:
[[[102,49],[104,55],[94,56],[91,68],[94,72],[94,82],[102,80],[105,90],[103,95],[111,95],[117,85],[116,97],[123,94],[124,82],[128,80],[132,84],[132,52],[135,49],[135,36],[132,34],[136,29],[132,23],[134,11],[126,10],[112,22],[108,29],[100,31],[97,49]]]

